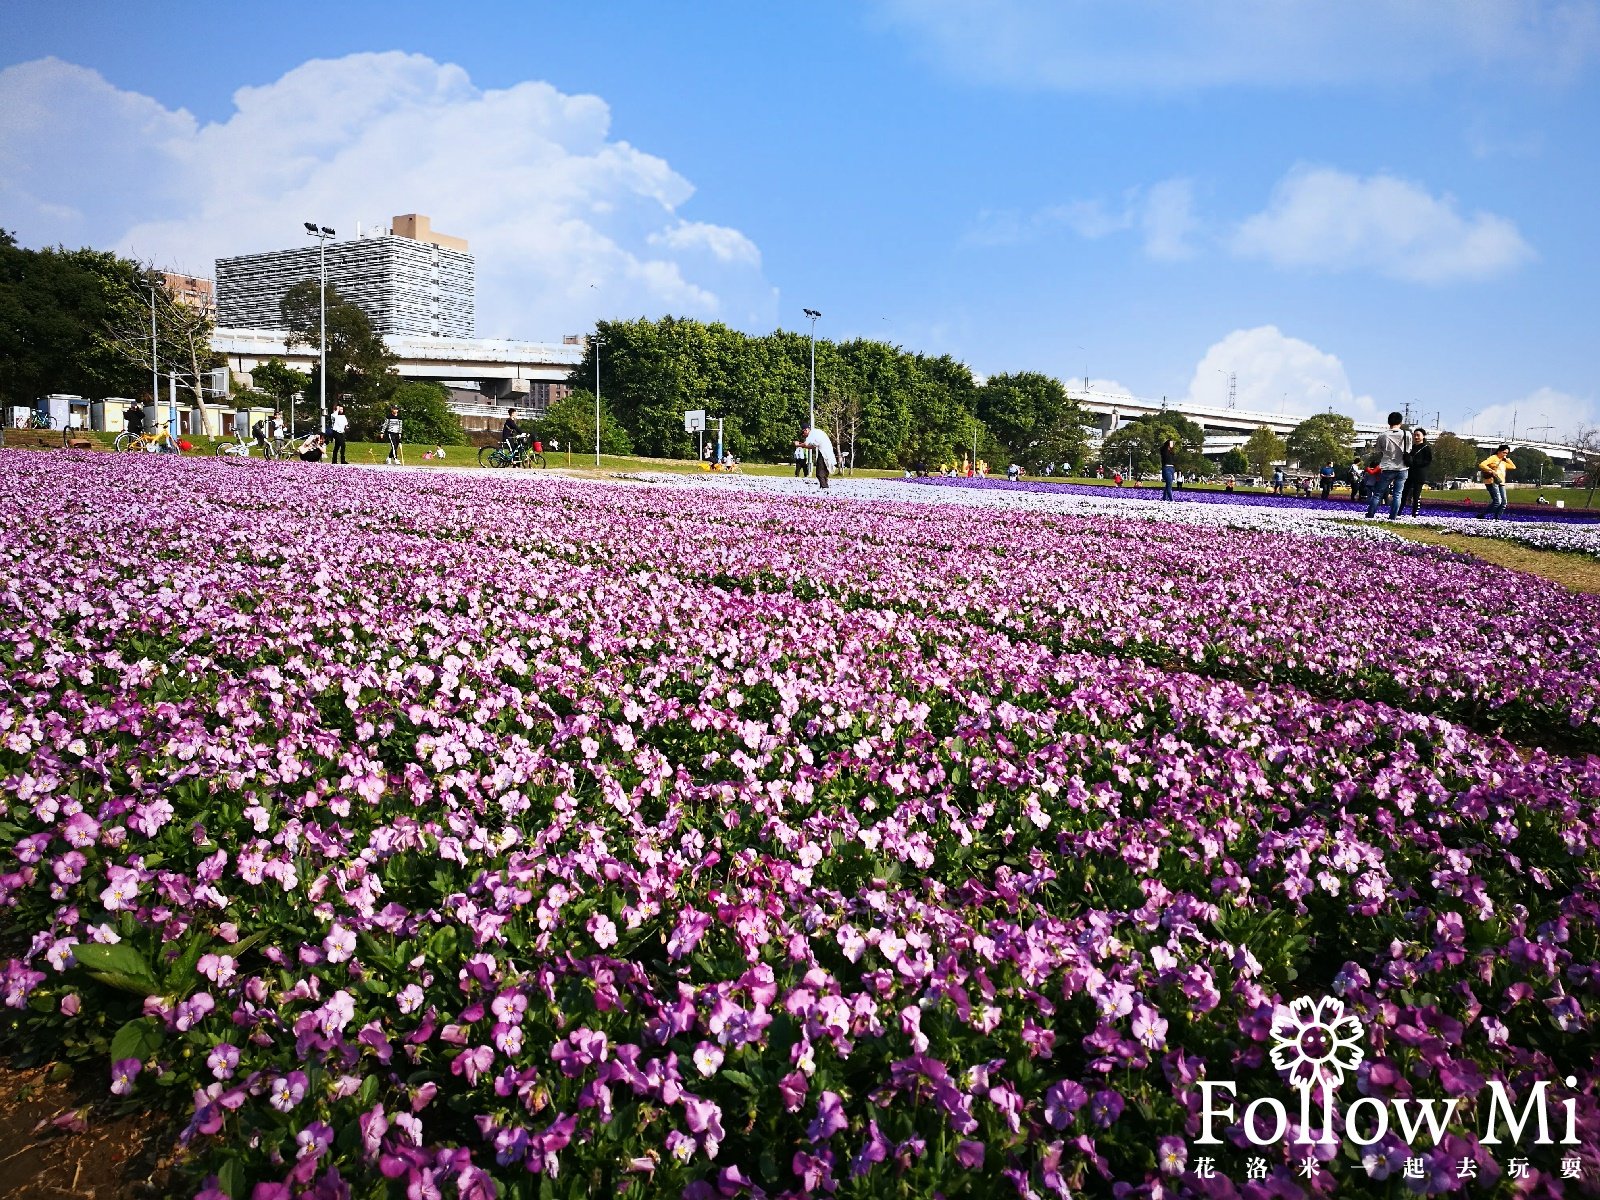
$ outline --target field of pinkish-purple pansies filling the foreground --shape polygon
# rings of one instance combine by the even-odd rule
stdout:
[[[1594,597],[142,454],[0,518],[5,1035],[187,1194],[1600,1189]]]

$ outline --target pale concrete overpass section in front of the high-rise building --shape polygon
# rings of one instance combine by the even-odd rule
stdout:
[[[474,382],[490,400],[518,403],[534,384],[565,384],[584,360],[581,342],[522,342],[496,338],[427,338],[386,334],[384,344],[400,362],[403,379]],[[282,330],[218,328],[211,349],[227,358],[235,374],[248,376],[267,358],[282,358],[306,371],[317,365],[315,346],[290,349]]]

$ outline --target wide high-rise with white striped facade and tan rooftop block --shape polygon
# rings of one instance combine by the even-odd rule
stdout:
[[[328,242],[328,286],[379,334],[474,338],[472,254],[466,238],[435,234],[418,213],[386,230]],[[216,323],[282,330],[278,304],[301,280],[320,278],[318,248],[272,250],[216,261]]]

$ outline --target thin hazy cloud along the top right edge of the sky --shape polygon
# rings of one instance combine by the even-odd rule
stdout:
[[[942,69],[1088,93],[1570,80],[1600,58],[1590,0],[878,0]]]

